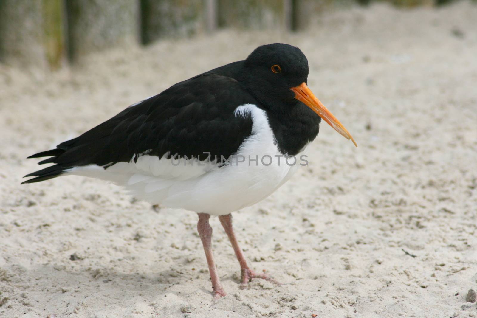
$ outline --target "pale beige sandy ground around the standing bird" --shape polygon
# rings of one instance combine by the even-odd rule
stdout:
[[[477,317],[476,19],[468,2],[375,5],[304,33],[221,31],[54,75],[0,66],[0,317]],[[310,164],[234,214],[251,267],[283,285],[239,289],[213,218],[228,291],[213,302],[194,213],[82,177],[20,185],[37,168],[26,156],[274,41],[307,55],[309,86],[359,145],[323,125]]]

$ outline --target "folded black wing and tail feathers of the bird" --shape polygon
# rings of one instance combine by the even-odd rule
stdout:
[[[137,160],[148,152],[162,158],[228,158],[251,134],[252,120],[237,117],[242,104],[258,102],[236,80],[203,74],[168,88],[121,113],[81,136],[65,141],[56,149],[28,158],[52,156],[39,164],[55,164],[28,176],[23,183],[54,178],[65,169]]]

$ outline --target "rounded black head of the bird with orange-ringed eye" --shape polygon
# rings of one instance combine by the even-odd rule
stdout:
[[[283,43],[262,45],[245,60],[249,91],[264,105],[293,104],[291,87],[308,81],[308,60],[297,47]]]

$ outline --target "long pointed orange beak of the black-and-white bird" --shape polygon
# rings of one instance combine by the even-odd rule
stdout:
[[[354,141],[351,134],[348,132],[346,128],[340,123],[338,119],[336,119],[333,114],[326,109],[326,107],[320,102],[318,98],[311,92],[311,90],[306,86],[305,82],[302,82],[300,85],[296,87],[290,88],[295,93],[295,98],[299,100],[301,103],[304,103],[308,107],[310,107],[313,112],[315,112],[318,116],[320,116],[325,122],[327,122],[330,126],[333,127],[338,133],[340,133],[344,138],[351,139],[353,144],[357,147],[358,145]]]

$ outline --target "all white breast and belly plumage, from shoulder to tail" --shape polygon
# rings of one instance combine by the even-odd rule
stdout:
[[[235,110],[236,116],[248,114],[252,118],[252,134],[230,164],[220,168],[213,162],[172,160],[166,155],[159,159],[144,154],[136,163],[131,160],[107,169],[89,165],[73,168],[69,173],[123,185],[131,195],[151,204],[211,215],[228,214],[272,194],[295,173],[303,154],[287,163],[275,145],[266,113],[253,104]]]

